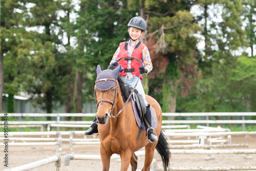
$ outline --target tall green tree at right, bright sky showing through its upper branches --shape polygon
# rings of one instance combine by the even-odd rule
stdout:
[[[191,99],[186,103],[182,101],[181,105],[186,105],[186,110],[193,105],[194,109],[189,111],[243,111],[244,94],[233,71],[237,71],[238,65],[236,51],[247,46],[242,30],[242,4],[240,1],[197,1],[197,6],[202,12],[195,18],[204,28],[205,43],[199,60],[201,77],[195,83]]]

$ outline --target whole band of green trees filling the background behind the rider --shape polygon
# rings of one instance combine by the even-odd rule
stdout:
[[[256,111],[255,1],[2,0],[0,94],[10,111],[20,92],[48,113],[81,111],[96,66],[108,68],[139,15],[154,67],[148,93],[163,112]]]

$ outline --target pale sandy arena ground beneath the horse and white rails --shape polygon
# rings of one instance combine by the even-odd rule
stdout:
[[[67,137],[63,137],[67,138]],[[74,137],[82,138],[82,137]],[[90,138],[90,137],[88,137]],[[172,137],[171,137],[172,138]],[[172,138],[173,140],[177,138]],[[236,148],[236,149],[256,149],[256,136],[232,136],[232,144],[246,143],[249,147]],[[63,154],[61,157],[61,170],[63,170],[63,159],[66,154],[69,153],[69,143],[65,142],[62,144]],[[1,149],[1,165],[0,169],[7,169],[4,166],[4,146],[0,146]],[[34,161],[45,159],[56,154],[55,146],[10,146],[8,147],[8,168],[28,164]],[[74,145],[74,154],[87,154],[87,155],[100,155],[99,145]],[[256,166],[256,154],[249,155],[252,159],[244,159],[245,155],[213,155],[215,159],[204,160],[207,155],[172,155],[171,165],[172,166]],[[160,157],[158,157],[160,160]],[[143,167],[144,157],[138,157],[138,170]],[[162,163],[158,162],[158,166]],[[54,170],[54,163],[35,168],[33,170],[46,171]],[[102,170],[101,161],[82,161],[72,160],[70,162],[70,170]],[[111,161],[111,171],[120,170],[120,162],[116,159]],[[131,170],[131,167],[129,167]]]

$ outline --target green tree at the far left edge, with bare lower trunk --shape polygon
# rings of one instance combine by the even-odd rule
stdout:
[[[13,96],[18,93],[20,87],[17,82],[20,70],[16,57],[19,51],[18,46],[26,41],[25,28],[20,26],[24,9],[25,7],[18,1],[1,1],[0,113],[2,112],[2,94],[9,94],[8,112],[13,112]]]

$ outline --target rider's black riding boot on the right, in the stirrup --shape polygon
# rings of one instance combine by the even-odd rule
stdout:
[[[146,106],[146,113],[145,113],[145,118],[148,122],[148,124],[150,125],[150,128],[148,129],[148,126],[146,125],[145,121],[144,121],[144,124],[145,124],[145,127],[146,127],[146,135],[147,135],[147,139],[148,141],[150,142],[155,142],[157,141],[157,136],[154,135],[153,133],[153,128],[151,127],[152,125],[152,120],[151,120],[151,111],[150,111],[150,104],[147,104]],[[147,131],[148,130],[148,131]]]

